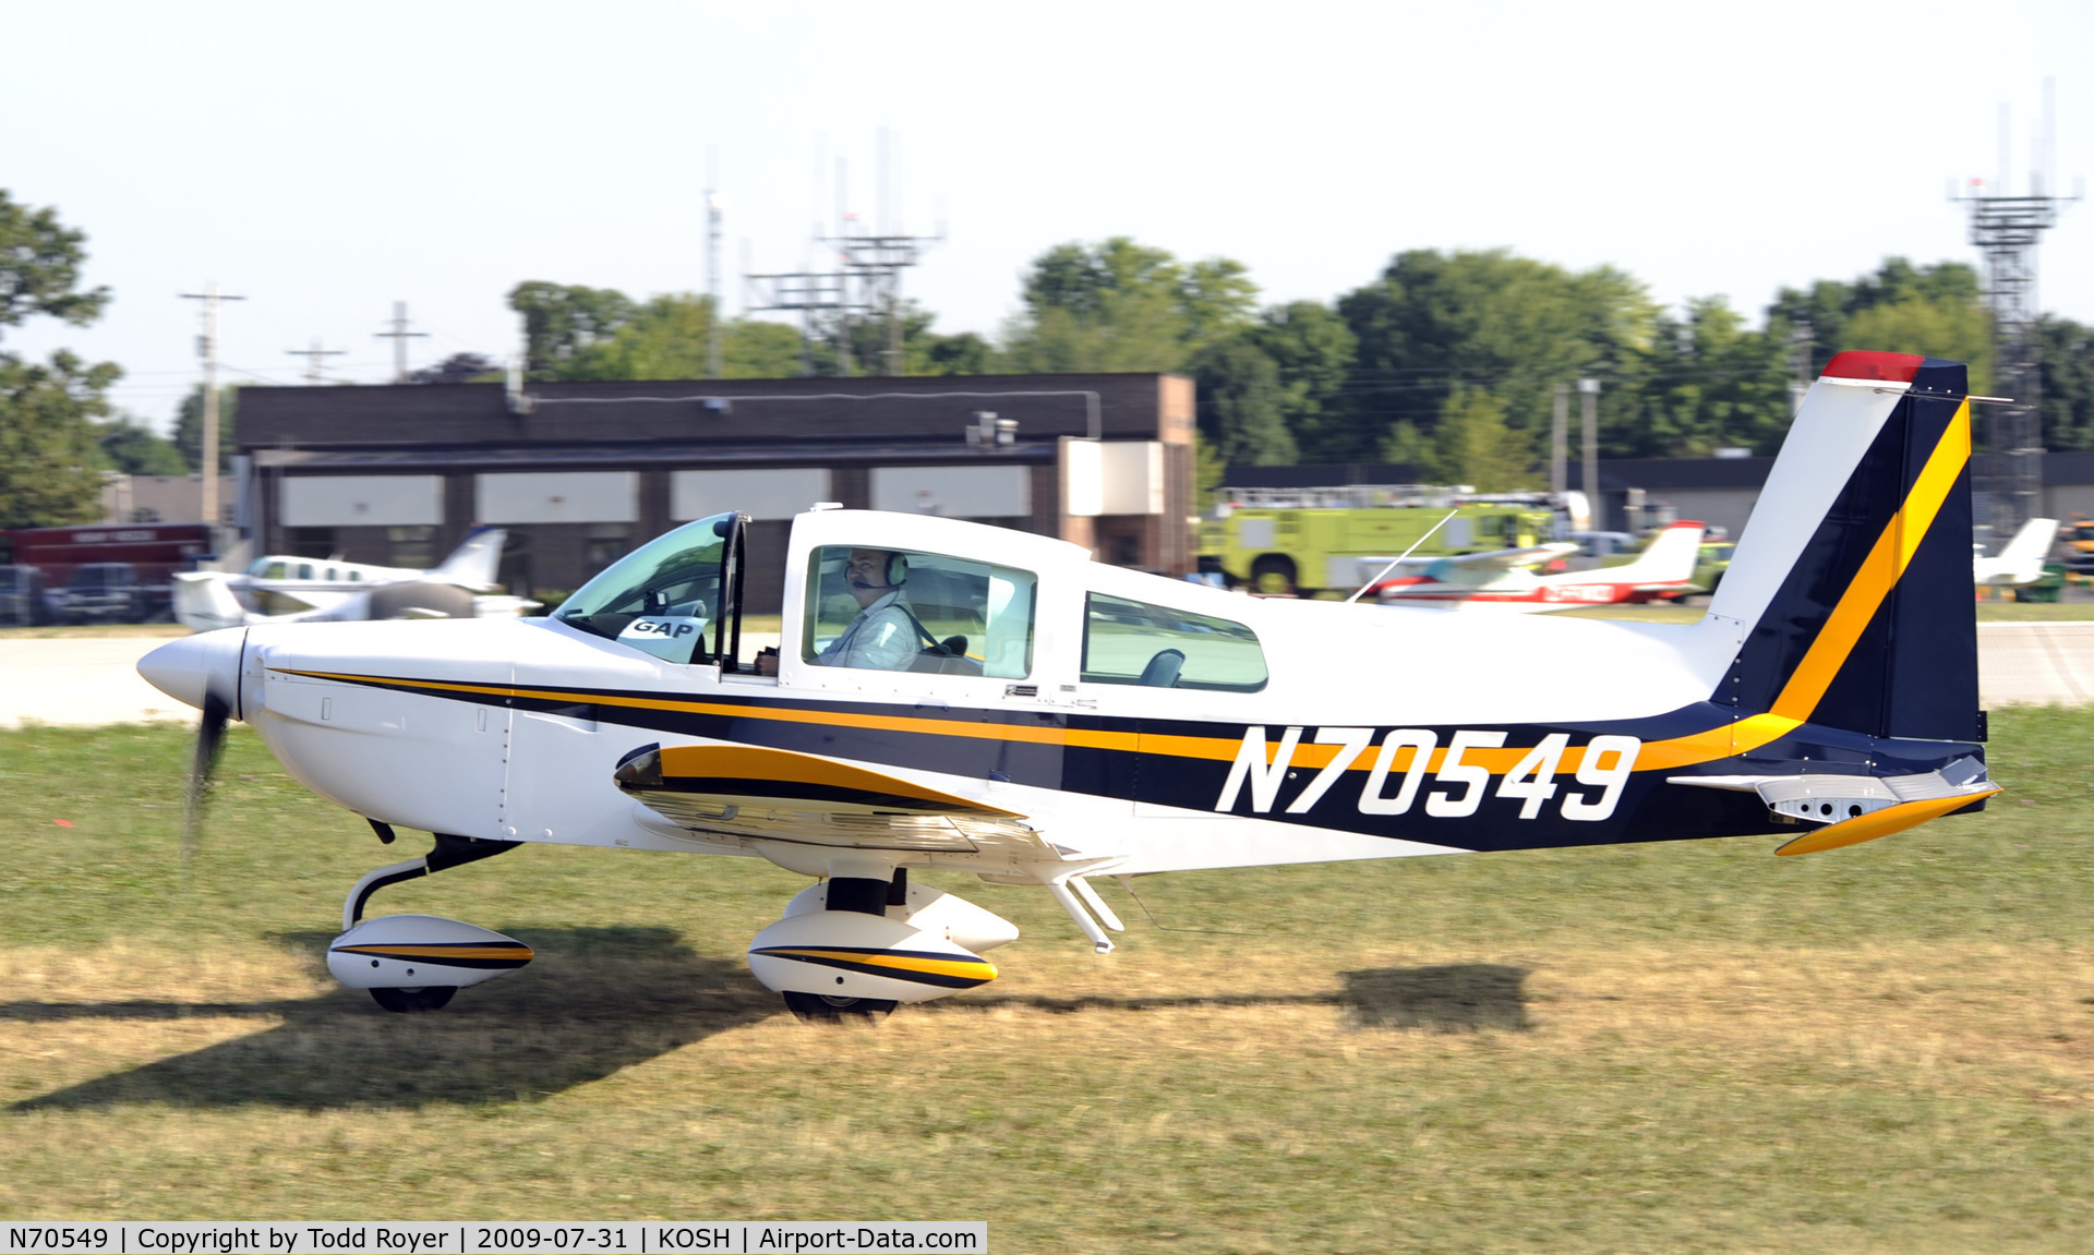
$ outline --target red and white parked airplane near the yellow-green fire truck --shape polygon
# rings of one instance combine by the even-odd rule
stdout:
[[[1577,545],[1533,545],[1451,557],[1418,557],[1397,564],[1397,574],[1374,585],[1382,606],[1428,606],[1439,610],[1577,610],[1698,593],[1694,562],[1700,555],[1702,524],[1673,524],[1658,532],[1635,562],[1598,570],[1535,574],[1535,566],[1577,553]],[[1361,578],[1388,570],[1386,557],[1359,559]]]

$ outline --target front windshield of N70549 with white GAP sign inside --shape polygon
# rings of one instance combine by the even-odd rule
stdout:
[[[685,524],[620,557],[553,614],[561,622],[668,662],[710,662],[722,612],[733,513]]]

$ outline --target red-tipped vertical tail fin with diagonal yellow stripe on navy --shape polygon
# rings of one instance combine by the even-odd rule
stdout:
[[[1962,362],[1843,352],[1811,386],[1709,610],[1715,700],[1866,735],[1977,737]]]

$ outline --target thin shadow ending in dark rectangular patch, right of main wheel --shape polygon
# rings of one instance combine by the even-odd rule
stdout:
[[[1342,987],[1326,993],[1261,995],[1215,993],[1194,997],[957,997],[955,1010],[1026,1006],[1047,1012],[1164,1010],[1229,1006],[1338,1006],[1357,1029],[1422,1029],[1426,1033],[1524,1033],[1527,968],[1503,964],[1436,964],[1430,968],[1369,968],[1338,972]],[[944,1006],[944,1004],[932,1004]]]

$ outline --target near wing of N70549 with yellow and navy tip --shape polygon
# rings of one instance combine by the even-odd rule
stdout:
[[[643,807],[691,832],[840,849],[1064,857],[1026,815],[819,754],[647,748],[626,758],[616,779]]]

